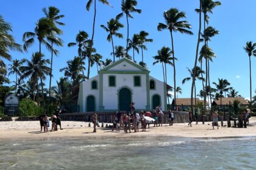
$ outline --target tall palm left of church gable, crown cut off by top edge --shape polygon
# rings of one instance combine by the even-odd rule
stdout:
[[[89,47],[90,47],[90,50],[89,53],[88,53],[88,57],[91,58],[91,49],[93,48],[93,38],[94,38],[94,27],[95,27],[95,21],[96,21],[96,0],[88,0],[87,4],[86,4],[86,9],[89,11],[90,10],[90,7],[91,7],[91,4],[93,4],[93,1],[94,1],[94,16],[93,16],[93,33],[91,35],[91,43],[89,44]],[[99,2],[101,2],[102,4],[107,4],[109,5],[110,7],[112,7],[109,2],[107,0],[99,0]],[[90,66],[90,59],[88,60],[89,63],[88,63],[88,66]],[[87,72],[87,78],[90,78],[90,67],[88,67],[88,72]]]

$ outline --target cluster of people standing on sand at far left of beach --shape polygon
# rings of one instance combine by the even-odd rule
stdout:
[[[61,118],[60,118],[60,113],[62,112],[62,110],[58,110],[57,112],[55,112],[55,114],[52,114],[51,117],[51,121],[52,121],[52,129],[51,131],[57,131],[57,125],[60,126],[60,130],[62,130],[62,123],[61,123]],[[39,117],[39,121],[40,121],[40,126],[41,126],[41,131],[42,132],[44,130],[44,132],[48,132],[48,127],[49,127],[49,118],[47,117],[46,113],[44,112],[44,114],[40,115]]]

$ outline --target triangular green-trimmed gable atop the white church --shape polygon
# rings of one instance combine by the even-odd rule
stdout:
[[[134,63],[133,61],[122,58],[119,61],[116,61],[115,63],[111,64],[110,66],[105,67],[102,70],[108,70],[108,71],[148,71],[147,69],[144,69],[140,65]]]

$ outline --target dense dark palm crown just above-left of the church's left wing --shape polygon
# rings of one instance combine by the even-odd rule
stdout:
[[[80,72],[82,72],[84,69],[82,68],[84,62],[80,60],[80,57],[75,56],[73,60],[68,60],[67,64],[68,66],[60,69],[60,72],[64,71],[65,77],[71,78],[73,86],[76,86],[84,78],[84,75],[80,74]]]

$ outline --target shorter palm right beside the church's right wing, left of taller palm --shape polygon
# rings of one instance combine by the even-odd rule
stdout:
[[[157,55],[153,56],[153,58],[155,59],[154,64],[157,63],[162,63],[162,68],[163,68],[163,82],[166,84],[167,86],[167,70],[166,70],[166,64],[170,64],[171,66],[173,66],[172,64],[172,57],[171,57],[172,51],[169,47],[165,47],[163,46],[162,49],[157,51]],[[165,69],[164,66],[165,65]],[[168,97],[168,104],[169,104],[169,97]]]

